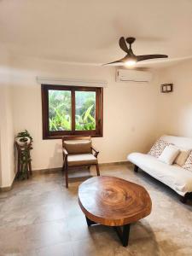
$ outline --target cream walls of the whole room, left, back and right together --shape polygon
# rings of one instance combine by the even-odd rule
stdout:
[[[192,137],[191,70],[192,61],[185,61],[154,72],[149,84],[116,83],[113,67],[21,58],[5,61],[0,65],[0,186],[9,186],[15,177],[14,137],[18,131],[27,129],[32,134],[34,170],[62,164],[61,140],[42,140],[37,75],[108,81],[104,89],[104,136],[93,139],[101,152],[99,161],[104,163],[126,160],[131,151],[146,152],[165,133]],[[173,83],[173,93],[161,94],[163,83]]]

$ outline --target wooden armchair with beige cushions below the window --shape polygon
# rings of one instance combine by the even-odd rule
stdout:
[[[63,167],[68,188],[68,169],[74,166],[96,166],[100,176],[97,155],[99,151],[92,147],[91,137],[62,137]]]

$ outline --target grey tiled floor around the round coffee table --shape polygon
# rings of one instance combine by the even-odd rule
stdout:
[[[0,255],[192,255],[191,202],[183,205],[171,189],[131,166],[102,166],[101,173],[142,184],[151,196],[152,213],[131,225],[128,247],[112,228],[88,229],[78,204],[80,182],[65,189],[62,174],[54,173],[35,175],[0,194]]]

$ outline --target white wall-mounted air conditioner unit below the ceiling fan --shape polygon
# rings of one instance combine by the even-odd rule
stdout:
[[[148,71],[118,69],[116,82],[150,82],[152,73]]]

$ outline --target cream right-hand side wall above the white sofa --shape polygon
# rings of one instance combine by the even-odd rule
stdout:
[[[160,84],[173,83],[173,92],[159,90],[159,134],[192,137],[192,61],[160,71]]]

